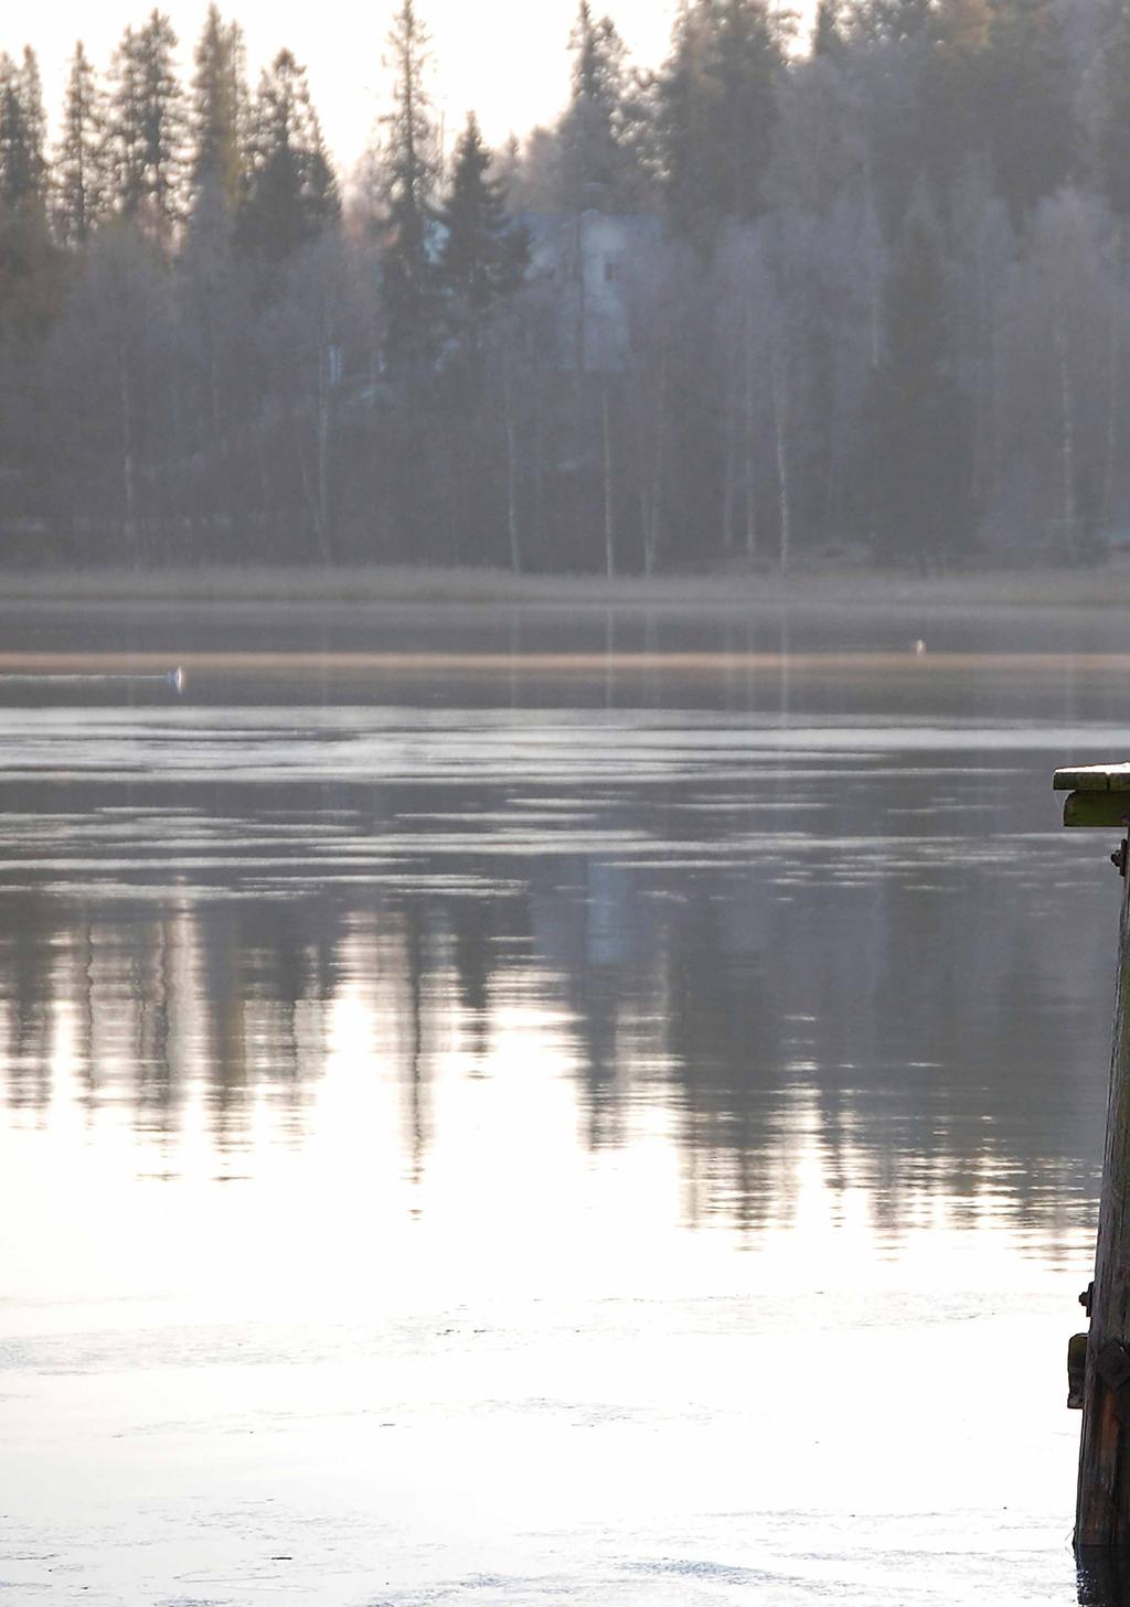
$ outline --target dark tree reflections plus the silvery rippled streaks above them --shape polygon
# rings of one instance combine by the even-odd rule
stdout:
[[[788,1221],[804,1151],[892,1245],[944,1204],[1056,1255],[1093,1202],[1114,898],[1046,783],[1117,739],[11,709],[3,1094],[16,1123],[127,1114],[161,1175],[199,1117],[244,1175],[317,1125],[347,1033],[420,1176],[452,1069],[490,1078],[518,1038],[588,1151],[667,1136],[691,1223]]]

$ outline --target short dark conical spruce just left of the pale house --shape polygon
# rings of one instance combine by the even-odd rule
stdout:
[[[439,281],[461,329],[476,329],[500,297],[513,294],[529,264],[529,238],[506,214],[506,188],[487,177],[492,164],[471,112],[455,149],[452,188],[439,212],[444,228]]]

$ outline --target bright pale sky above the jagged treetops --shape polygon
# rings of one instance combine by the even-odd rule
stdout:
[[[677,0],[617,0],[614,16],[640,66],[662,59]],[[59,103],[76,39],[101,69],[127,24],[148,14],[145,0],[50,0],[42,10],[10,11],[0,48],[32,45],[40,56],[51,111]],[[185,66],[199,35],[206,0],[166,0]],[[252,76],[283,45],[309,67],[326,140],[349,172],[368,143],[386,95],[384,40],[392,0],[233,0],[225,16],[243,22]],[[424,0],[434,40],[434,88],[448,129],[474,108],[487,137],[500,143],[550,121],[567,92],[567,40],[575,0]]]

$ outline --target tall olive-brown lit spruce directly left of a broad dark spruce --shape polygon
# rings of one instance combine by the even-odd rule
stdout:
[[[217,5],[207,8],[196,47],[190,124],[193,201],[207,191],[235,214],[246,172],[246,53],[240,24],[225,24]]]

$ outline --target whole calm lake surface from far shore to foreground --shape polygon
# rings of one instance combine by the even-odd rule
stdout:
[[[3,627],[0,1599],[1079,1601],[1130,622]]]

